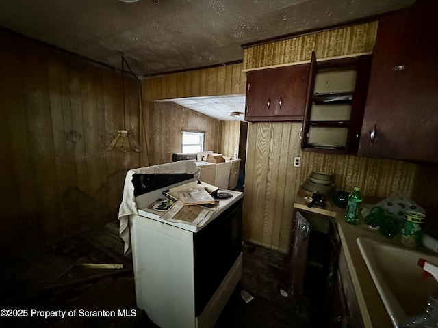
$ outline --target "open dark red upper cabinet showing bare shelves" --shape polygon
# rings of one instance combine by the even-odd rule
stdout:
[[[357,154],[371,57],[317,61],[312,53],[303,150]]]

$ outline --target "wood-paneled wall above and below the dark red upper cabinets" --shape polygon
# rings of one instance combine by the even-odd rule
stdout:
[[[244,49],[244,69],[329,58],[372,51],[377,23],[324,31]],[[244,238],[287,251],[292,203],[313,171],[334,172],[337,189],[355,185],[365,194],[387,197],[396,191],[411,197],[417,167],[414,164],[359,156],[302,152],[300,123],[250,123],[244,191]],[[302,158],[293,167],[294,156]],[[417,200],[420,202],[420,200]],[[420,202],[421,204],[421,202]]]

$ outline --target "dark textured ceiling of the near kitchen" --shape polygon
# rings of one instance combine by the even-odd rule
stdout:
[[[414,0],[0,0],[0,27],[138,77],[242,61],[254,44]],[[242,110],[243,111],[243,107]]]

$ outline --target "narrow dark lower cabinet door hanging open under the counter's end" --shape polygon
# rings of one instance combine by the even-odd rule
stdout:
[[[294,304],[300,305],[302,288],[309,247],[310,224],[299,212],[296,212],[294,229],[291,233],[292,256],[289,269],[289,292]]]

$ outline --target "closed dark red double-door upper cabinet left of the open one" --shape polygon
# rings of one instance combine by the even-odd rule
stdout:
[[[309,64],[297,64],[248,72],[245,120],[302,122],[309,67]]]

